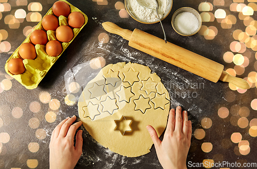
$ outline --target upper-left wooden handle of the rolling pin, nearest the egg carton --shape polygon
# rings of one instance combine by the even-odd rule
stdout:
[[[130,41],[132,35],[131,30],[123,29],[112,22],[104,22],[102,23],[102,26],[107,32],[118,34],[123,37],[123,39]]]

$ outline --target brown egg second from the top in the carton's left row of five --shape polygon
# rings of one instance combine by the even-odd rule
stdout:
[[[56,29],[59,26],[58,18],[54,15],[45,15],[42,20],[42,26],[46,31],[47,30],[56,31]]]

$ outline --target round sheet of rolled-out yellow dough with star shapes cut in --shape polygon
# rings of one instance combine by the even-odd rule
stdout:
[[[149,153],[153,145],[146,126],[152,125],[158,136],[164,131],[169,100],[167,89],[149,67],[109,64],[82,91],[79,116],[101,145],[123,156],[138,157]]]

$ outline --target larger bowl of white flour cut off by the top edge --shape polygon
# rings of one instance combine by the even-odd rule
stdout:
[[[150,8],[146,8],[141,4],[148,3]],[[157,0],[158,15],[160,20],[163,20],[169,15],[172,8],[172,0]],[[155,0],[125,0],[125,8],[134,20],[143,24],[155,24],[159,22]]]

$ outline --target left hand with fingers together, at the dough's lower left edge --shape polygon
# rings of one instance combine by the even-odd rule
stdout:
[[[52,131],[49,144],[50,169],[73,169],[79,161],[83,144],[82,130],[76,135],[76,146],[74,146],[74,136],[82,122],[72,124],[75,120],[76,116],[68,117]]]

